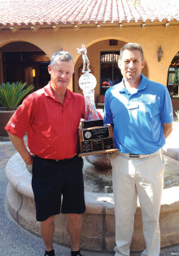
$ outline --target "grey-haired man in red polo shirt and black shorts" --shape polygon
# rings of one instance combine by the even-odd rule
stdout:
[[[32,187],[45,255],[55,255],[54,218],[61,211],[68,215],[71,255],[81,256],[81,214],[85,212],[85,199],[83,160],[76,152],[78,126],[85,117],[85,99],[67,89],[74,73],[74,61],[68,52],[56,52],[48,71],[48,85],[24,99],[5,129],[24,162],[33,166]],[[26,132],[30,152],[24,144]]]

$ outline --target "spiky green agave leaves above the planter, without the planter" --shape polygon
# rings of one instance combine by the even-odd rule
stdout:
[[[18,107],[20,101],[28,94],[30,90],[33,90],[34,86],[26,86],[26,82],[7,82],[0,85],[0,104],[7,110],[13,110]]]

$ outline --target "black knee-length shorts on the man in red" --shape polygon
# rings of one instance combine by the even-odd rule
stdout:
[[[85,212],[83,159],[55,161],[35,156],[32,187],[37,221],[52,215]],[[63,196],[63,200],[61,202]]]

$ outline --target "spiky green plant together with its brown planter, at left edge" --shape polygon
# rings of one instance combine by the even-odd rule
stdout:
[[[4,130],[7,121],[15,113],[24,96],[34,88],[33,85],[24,88],[25,86],[26,82],[7,82],[0,85],[0,136],[7,136],[7,131]]]

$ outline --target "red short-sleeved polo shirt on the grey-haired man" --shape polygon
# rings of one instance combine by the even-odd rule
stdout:
[[[5,129],[23,138],[38,157],[64,159],[77,152],[77,132],[85,117],[85,99],[67,89],[63,104],[55,98],[50,83],[24,99]]]

